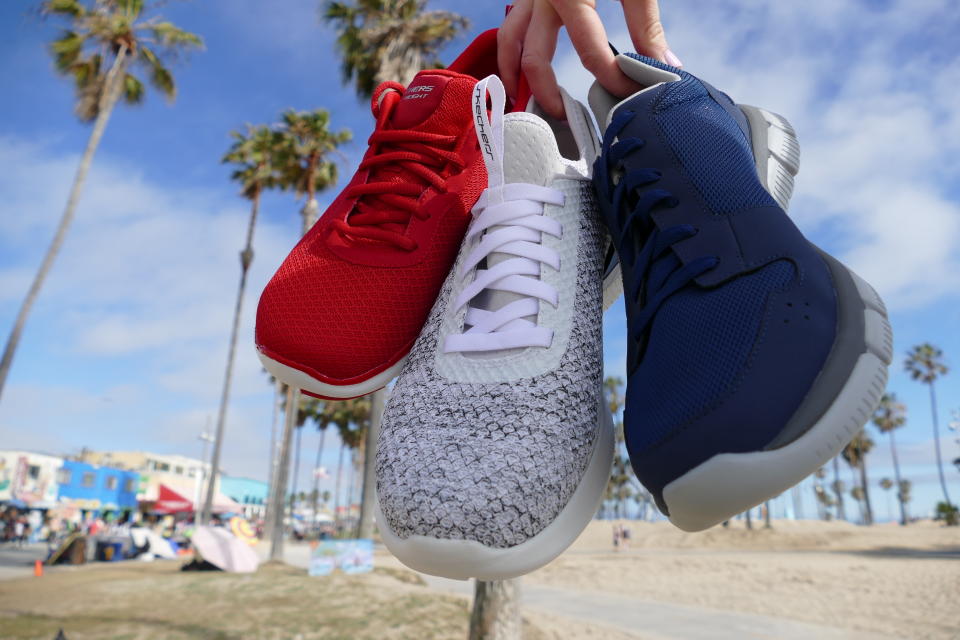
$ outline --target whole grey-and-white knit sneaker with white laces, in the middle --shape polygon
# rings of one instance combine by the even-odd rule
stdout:
[[[384,412],[377,518],[409,567],[500,580],[566,549],[610,475],[607,239],[586,109],[564,93],[569,123],[504,115],[495,76],[474,103],[489,188]]]

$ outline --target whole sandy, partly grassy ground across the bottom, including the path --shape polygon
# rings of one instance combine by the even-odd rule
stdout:
[[[960,637],[960,529],[624,522],[631,545],[615,552],[612,524],[592,522],[522,578],[526,640]],[[418,575],[382,548],[365,575],[311,578],[308,558],[288,545],[297,566],[254,575],[123,562],[0,581],[0,638],[466,637],[471,583]]]

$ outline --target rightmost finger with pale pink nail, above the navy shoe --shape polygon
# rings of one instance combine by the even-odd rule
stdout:
[[[567,28],[570,42],[580,56],[581,64],[604,89],[620,97],[640,90],[640,85],[625,76],[617,66],[607,42],[607,32],[593,7],[582,3],[560,2],[557,3],[557,10]]]

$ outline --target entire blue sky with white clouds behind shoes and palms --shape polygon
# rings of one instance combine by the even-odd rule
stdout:
[[[914,508],[926,512],[938,495],[929,400],[902,373],[902,357],[929,340],[960,366],[960,12],[950,0],[664,4],[668,37],[688,70],[796,126],[803,159],[791,215],[890,306],[897,361],[889,388],[909,408],[897,436],[915,481]],[[430,6],[468,16],[470,35],[497,26],[502,15],[495,3]],[[89,133],[72,115],[70,84],[51,70],[45,44],[56,23],[39,19],[35,7],[0,3],[4,339]],[[628,49],[619,5],[601,1],[600,9],[613,42]],[[176,65],[175,104],[151,95],[111,120],[0,401],[4,448],[198,455],[196,436],[216,413],[247,213],[219,163],[228,132],[274,122],[289,107],[325,107],[334,127],[355,136],[341,176],[363,152],[369,108],[342,87],[333,36],[314,0],[171,2],[163,14],[200,33],[206,50]],[[585,95],[589,77],[566,44],[555,67],[575,96]],[[298,208],[289,195],[263,204],[224,446],[232,474],[266,475],[271,391],[253,353],[253,311],[296,238]],[[624,368],[622,313],[618,304],[606,317],[611,374]],[[960,447],[946,423],[960,409],[960,370],[938,393],[952,460]],[[889,449],[874,439],[880,446],[871,474],[879,480],[891,474]],[[316,443],[313,432],[304,436],[308,459]],[[335,438],[328,443],[324,464],[332,467]],[[301,486],[309,467],[303,464]],[[960,474],[952,465],[946,473],[957,500]],[[881,515],[883,500],[875,498]]]

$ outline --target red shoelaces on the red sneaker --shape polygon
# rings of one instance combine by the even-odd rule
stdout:
[[[441,193],[446,191],[440,171],[447,163],[457,169],[462,169],[465,163],[450,150],[456,136],[386,129],[405,88],[397,82],[384,82],[374,92],[372,110],[377,127],[367,142],[375,148],[375,153],[360,163],[361,170],[372,169],[370,181],[347,190],[347,197],[357,198],[357,203],[346,220],[337,220],[334,228],[348,238],[384,242],[413,251],[417,248],[416,241],[399,229],[406,229],[411,217],[419,220],[429,217],[417,206],[418,199],[431,186]],[[375,168],[384,165],[404,169],[404,180],[377,180]]]

